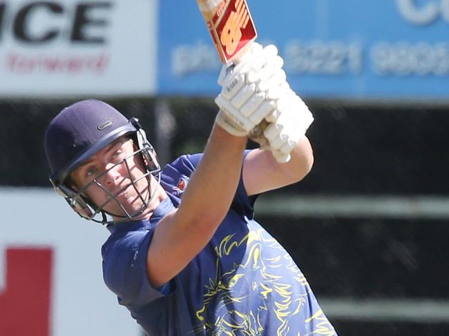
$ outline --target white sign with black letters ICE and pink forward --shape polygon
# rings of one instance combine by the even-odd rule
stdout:
[[[0,0],[0,97],[151,95],[157,0]]]

